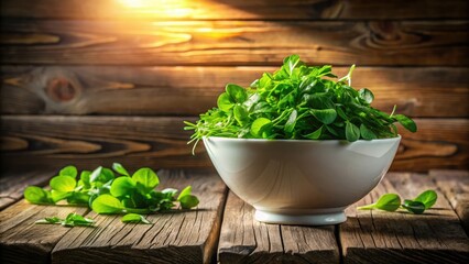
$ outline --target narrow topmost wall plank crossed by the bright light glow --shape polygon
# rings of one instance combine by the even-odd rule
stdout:
[[[2,0],[0,15],[36,19],[465,19],[469,8],[463,0],[198,0],[131,3],[116,0]]]

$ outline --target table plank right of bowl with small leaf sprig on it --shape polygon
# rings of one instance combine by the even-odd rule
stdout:
[[[389,174],[366,198],[347,209],[340,224],[345,263],[466,263],[469,239],[448,200],[439,198],[425,215],[360,211],[356,207],[375,201],[385,193],[414,198],[436,189],[427,175]]]

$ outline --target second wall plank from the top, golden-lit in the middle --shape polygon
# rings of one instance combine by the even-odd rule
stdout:
[[[468,21],[2,21],[3,64],[469,65]]]

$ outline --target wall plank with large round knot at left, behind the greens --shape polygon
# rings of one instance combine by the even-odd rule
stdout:
[[[227,82],[249,86],[276,67],[2,66],[3,113],[196,116],[216,106]],[[348,67],[337,67],[343,76]],[[353,86],[373,107],[412,117],[469,117],[469,68],[358,67]],[[459,106],[455,108],[454,106]]]

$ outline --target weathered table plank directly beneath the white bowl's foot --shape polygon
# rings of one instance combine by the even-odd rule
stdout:
[[[218,245],[225,263],[338,263],[339,249],[329,227],[288,227],[258,222],[254,209],[228,195]]]

